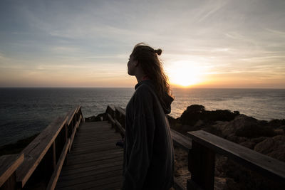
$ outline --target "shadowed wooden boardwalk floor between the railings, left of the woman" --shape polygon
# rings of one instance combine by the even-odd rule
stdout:
[[[115,146],[120,139],[107,121],[83,123],[56,189],[120,189],[123,149]]]

